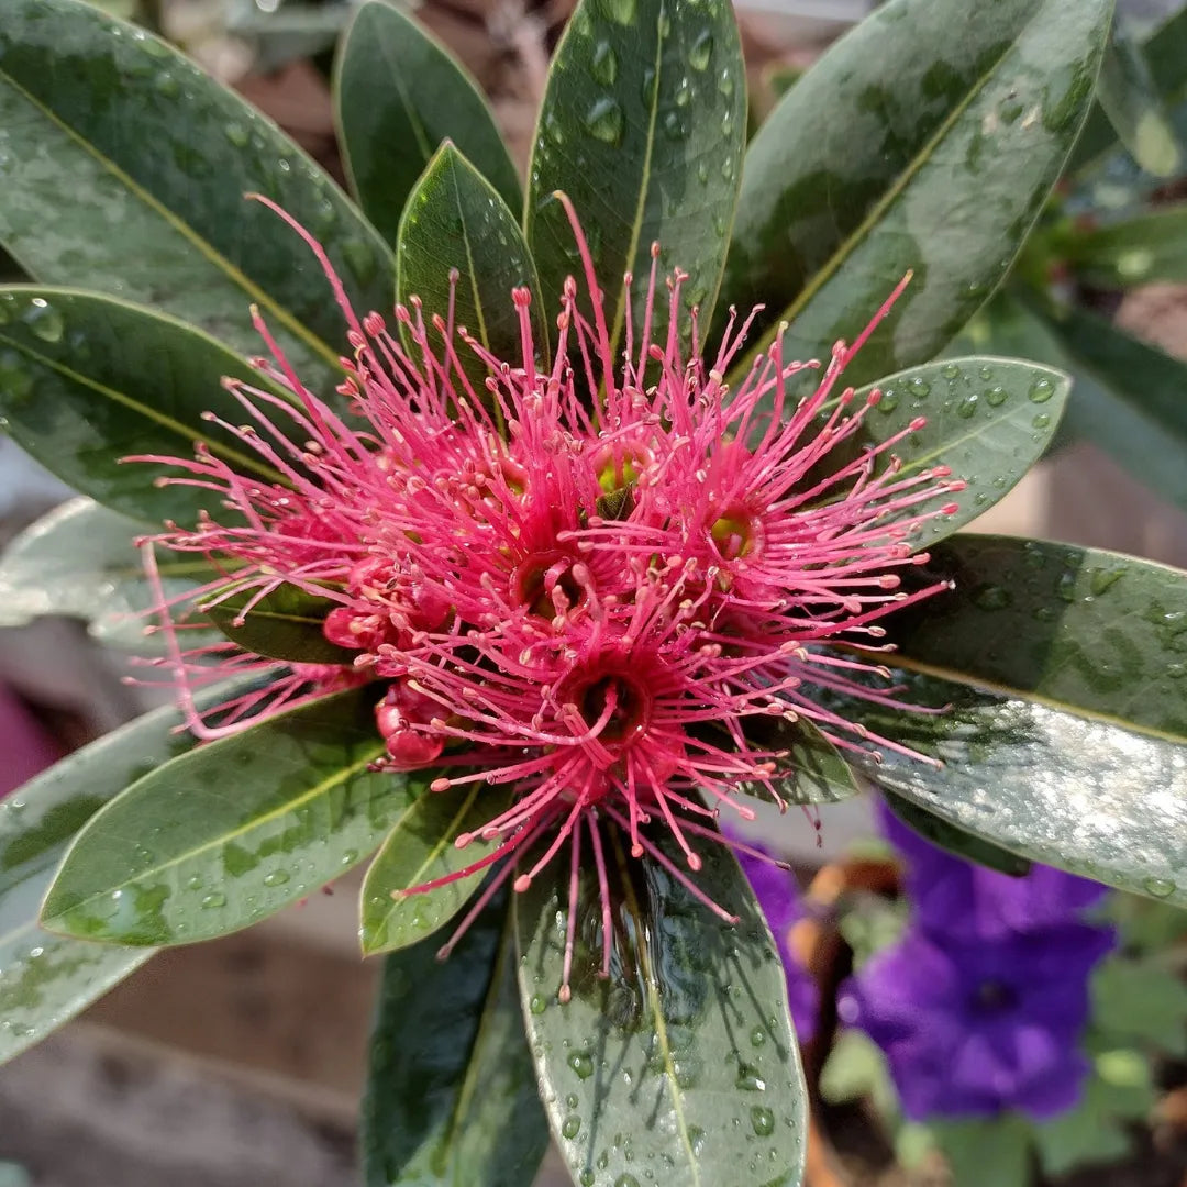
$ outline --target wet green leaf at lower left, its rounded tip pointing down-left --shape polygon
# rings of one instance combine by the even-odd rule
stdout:
[[[374,687],[183,755],[78,834],[42,909],[80,939],[190,944],[271,915],[372,852],[423,792],[374,773]]]

